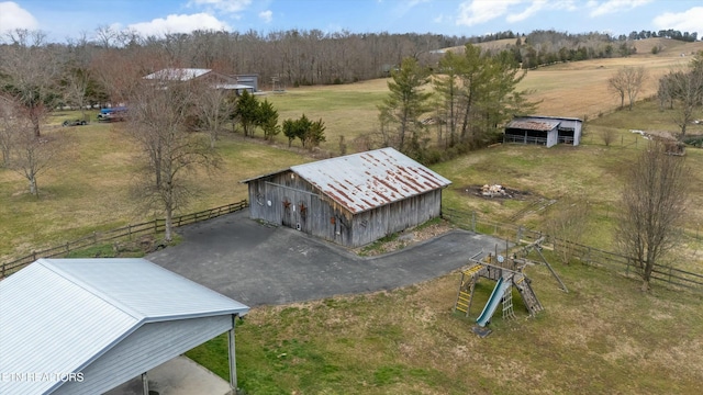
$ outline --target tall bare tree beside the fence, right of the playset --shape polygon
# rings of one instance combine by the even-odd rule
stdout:
[[[684,158],[651,143],[627,173],[615,240],[650,287],[655,264],[678,245],[677,229],[685,211],[689,187]]]

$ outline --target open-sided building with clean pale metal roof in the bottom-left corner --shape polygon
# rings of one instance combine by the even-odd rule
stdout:
[[[0,281],[0,394],[102,394],[226,331],[235,388],[248,311],[145,259],[40,259]]]

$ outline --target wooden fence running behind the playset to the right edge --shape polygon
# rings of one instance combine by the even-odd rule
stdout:
[[[546,234],[543,235],[542,232],[526,229],[514,224],[484,221],[481,219],[476,212],[462,212],[445,208],[443,210],[442,215],[459,227],[499,237],[506,240],[505,242],[514,242],[517,245],[528,244],[537,240],[542,236],[545,236],[547,240],[546,244],[550,244],[554,247],[554,242],[557,241],[557,245],[568,246],[572,251],[573,258],[585,264],[605,268],[626,276],[634,276],[638,273],[638,268],[633,266],[633,259],[628,259],[627,257],[616,252],[605,251],[578,242],[549,237]],[[672,267],[661,264],[655,266],[651,280],[670,285],[703,291],[703,274]]]

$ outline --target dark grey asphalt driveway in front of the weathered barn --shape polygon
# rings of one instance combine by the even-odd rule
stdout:
[[[499,239],[453,230],[380,257],[287,227],[248,218],[248,211],[179,228],[183,241],[146,258],[248,306],[288,304],[419,283],[492,251]]]

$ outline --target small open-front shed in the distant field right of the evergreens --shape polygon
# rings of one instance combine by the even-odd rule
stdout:
[[[503,143],[536,144],[551,147],[557,144],[578,146],[583,121],[557,116],[515,116],[505,126]]]

